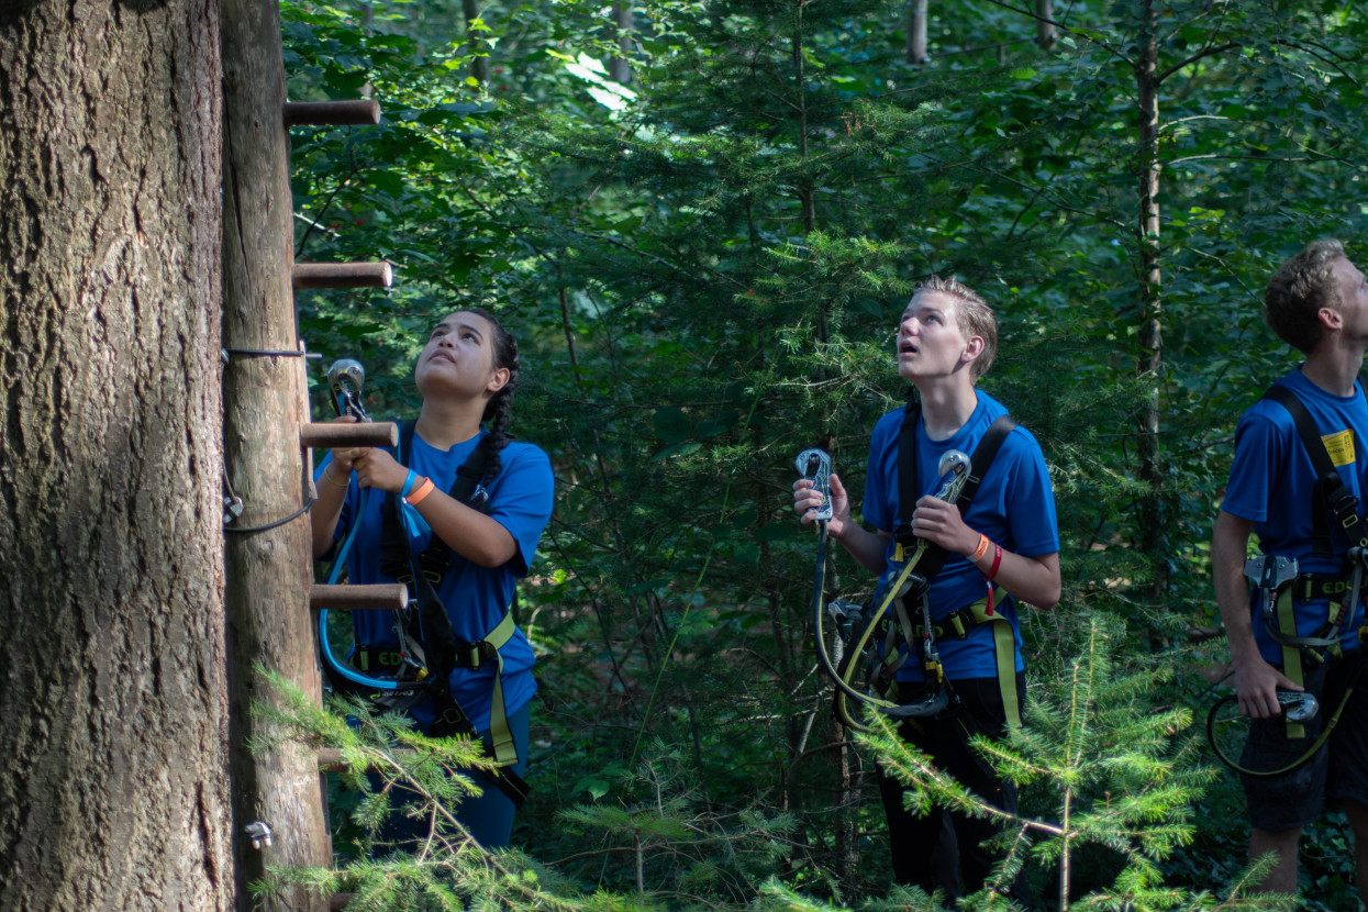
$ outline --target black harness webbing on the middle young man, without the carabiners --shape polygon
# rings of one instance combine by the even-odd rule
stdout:
[[[841,656],[839,666],[834,669],[832,675],[836,680],[836,718],[845,725],[856,730],[866,730],[866,726],[860,725],[850,712],[848,696],[870,703],[878,707],[882,712],[892,718],[915,718],[933,715],[945,708],[949,701],[951,692],[948,682],[936,681],[934,684],[944,684],[937,689],[928,701],[912,706],[899,706],[895,700],[886,699],[888,695],[896,693],[896,673],[906,662],[906,656],[911,655],[917,647],[917,632],[911,617],[908,615],[908,603],[914,599],[923,599],[926,591],[930,588],[930,581],[940,573],[945,561],[949,558],[949,552],[938,544],[928,541],[926,539],[919,539],[912,535],[911,528],[911,514],[917,507],[917,500],[919,498],[918,485],[918,472],[917,472],[917,424],[921,418],[921,403],[912,397],[912,391],[908,391],[907,407],[903,412],[903,421],[899,428],[897,438],[897,502],[899,510],[907,517],[906,522],[899,522],[893,529],[893,540],[897,543],[896,559],[903,561],[903,570],[896,578],[889,581],[888,591],[881,602],[873,611],[865,613],[859,622],[852,628],[850,636],[850,644],[847,645],[844,655]],[[978,446],[974,447],[974,453],[970,457],[969,470],[958,487],[951,502],[959,509],[963,515],[969,510],[970,502],[978,492],[978,485],[984,480],[984,474],[992,466],[993,459],[997,457],[997,451],[1001,448],[1003,442],[1007,435],[1011,433],[1012,428],[1016,427],[1016,421],[1011,416],[1000,416],[984,436],[979,439]],[[902,517],[899,517],[902,518]],[[818,567],[814,592],[814,628],[817,633],[818,643],[818,656],[819,659],[826,659],[826,647],[821,634],[821,598],[822,585],[825,581],[825,528],[822,529],[824,536],[818,547]],[[908,551],[911,551],[908,554]],[[906,598],[900,598],[900,591],[903,584],[910,581],[911,588]],[[876,630],[886,622],[888,610],[893,610],[893,622],[888,623],[884,656],[866,655],[866,647]],[[971,606],[970,610],[977,606]],[[982,608],[979,608],[982,613]],[[999,618],[1003,625],[1010,628],[1011,625],[1005,618]],[[995,625],[997,626],[997,625]],[[930,632],[922,625],[922,639],[923,639],[923,652],[929,644]],[[907,643],[907,654],[897,649],[896,634],[902,633],[903,640]],[[1008,630],[1010,633],[1010,630]],[[1000,649],[999,649],[1000,652]],[[1014,654],[1015,656],[1015,641]],[[869,669],[866,674],[866,685],[869,693],[859,693],[851,686],[851,681],[855,677],[855,670],[860,665],[860,660],[866,659],[869,662]],[[925,659],[925,655],[923,655]],[[830,666],[829,659],[824,663]],[[999,665],[1001,665],[999,656]],[[1015,662],[1008,663],[1010,677],[1012,681],[1011,695],[1004,692],[1004,703],[1008,706],[1008,718],[1011,719],[1016,714],[1016,707],[1019,701],[1015,699],[1016,689],[1016,669]],[[833,669],[828,667],[828,673]],[[1001,670],[999,670],[999,680],[1001,680]],[[878,695],[878,696],[870,696]],[[1019,716],[1018,716],[1019,718]]]

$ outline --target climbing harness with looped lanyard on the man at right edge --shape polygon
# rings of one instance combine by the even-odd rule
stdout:
[[[1294,558],[1278,555],[1260,555],[1245,562],[1245,577],[1261,592],[1259,621],[1264,625],[1268,636],[1282,648],[1283,674],[1302,686],[1305,684],[1305,667],[1317,666],[1331,659],[1341,659],[1341,629],[1353,617],[1360,603],[1364,584],[1364,569],[1368,565],[1368,524],[1358,514],[1358,498],[1345,485],[1335,462],[1330,455],[1326,439],[1316,428],[1315,420],[1302,405],[1301,399],[1280,384],[1274,384],[1263,395],[1283,406],[1291,414],[1297,435],[1306,448],[1312,468],[1316,472],[1316,485],[1312,496],[1312,548],[1319,555],[1334,555],[1330,540],[1331,522],[1343,529],[1350,547],[1345,555],[1347,574],[1319,574],[1298,573]],[[1346,431],[1346,433],[1349,433]],[[1349,444],[1352,447],[1352,442]],[[1338,599],[1337,599],[1338,596]],[[1319,600],[1328,602],[1324,623],[1311,636],[1300,636],[1297,630],[1295,602]],[[1358,629],[1360,644],[1368,641],[1368,626]],[[1339,706],[1326,721],[1326,727],[1315,742],[1295,760],[1278,770],[1249,770],[1231,760],[1220,748],[1216,737],[1216,719],[1220,710],[1238,700],[1237,696],[1227,696],[1218,700],[1207,714],[1207,742],[1216,757],[1227,767],[1245,775],[1268,778],[1285,775],[1304,763],[1309,762],[1316,752],[1330,738],[1331,732],[1339,723],[1339,716],[1349,704],[1358,677],[1363,673],[1361,651],[1352,659],[1349,678],[1345,684],[1343,696]],[[1278,703],[1283,707],[1286,732],[1289,740],[1306,737],[1305,723],[1316,716],[1320,710],[1319,703],[1311,693],[1297,690],[1279,690]]]

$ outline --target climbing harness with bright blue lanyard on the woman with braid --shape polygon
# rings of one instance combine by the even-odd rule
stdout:
[[[334,407],[339,414],[354,414],[357,420],[368,421],[360,403],[360,390],[364,371],[356,361],[338,361],[328,371],[328,390]],[[413,447],[415,421],[399,424],[399,446],[397,461],[404,465]],[[450,496],[482,513],[488,513],[490,498],[480,480],[487,458],[486,440],[457,470]],[[406,494],[406,492],[405,492]],[[342,547],[328,570],[328,582],[335,582],[352,541],[365,515],[371,489],[361,495],[357,518],[352,522]],[[503,792],[514,805],[521,807],[527,799],[528,786],[512,766],[517,763],[517,748],[509,727],[508,710],[503,700],[503,659],[499,649],[513,639],[517,626],[512,611],[506,611],[495,628],[483,640],[466,643],[458,640],[451,628],[451,619],[436,592],[447,573],[464,573],[469,563],[456,556],[434,533],[430,544],[415,552],[410,529],[416,532],[413,518],[404,511],[399,494],[390,494],[382,506],[380,561],[382,573],[404,582],[409,589],[409,606],[393,611],[394,647],[376,648],[358,644],[350,662],[342,662],[328,643],[328,611],[319,611],[319,647],[323,669],[332,688],[346,696],[364,696],[383,711],[402,712],[431,697],[435,718],[428,727],[430,737],[464,736],[477,740],[498,767],[490,773],[494,785]],[[479,738],[471,718],[465,714],[451,693],[451,673],[456,669],[477,670],[494,665],[494,690],[490,707],[490,744]]]

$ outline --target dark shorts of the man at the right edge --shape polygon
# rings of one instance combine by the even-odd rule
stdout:
[[[1308,671],[1306,692],[1315,695],[1320,711],[1302,725],[1305,737],[1289,738],[1282,716],[1254,719],[1239,766],[1279,770],[1305,755],[1339,708],[1350,671],[1361,660],[1338,659]],[[1249,803],[1249,823],[1256,830],[1304,827],[1320,816],[1324,797],[1368,807],[1368,674],[1358,675],[1335,730],[1311,760],[1285,775],[1241,774],[1239,779]]]

